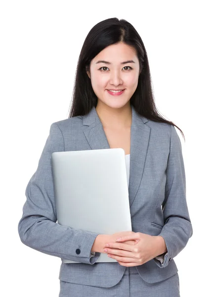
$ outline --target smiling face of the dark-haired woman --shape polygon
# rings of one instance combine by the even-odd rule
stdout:
[[[121,108],[130,104],[137,88],[139,61],[135,49],[124,43],[111,45],[98,53],[90,62],[91,85],[98,105]],[[108,90],[124,90],[115,95]]]

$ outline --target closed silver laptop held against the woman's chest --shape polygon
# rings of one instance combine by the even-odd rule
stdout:
[[[132,231],[123,148],[53,152],[51,160],[58,224],[98,234]],[[101,253],[96,262],[116,260]]]

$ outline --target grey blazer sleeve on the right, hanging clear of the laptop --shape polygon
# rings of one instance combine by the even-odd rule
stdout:
[[[166,169],[165,199],[162,204],[164,226],[162,236],[167,246],[163,264],[154,258],[160,268],[166,267],[187,244],[193,234],[186,203],[186,180],[181,142],[171,125],[171,143]]]

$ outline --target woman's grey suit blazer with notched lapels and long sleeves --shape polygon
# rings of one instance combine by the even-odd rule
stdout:
[[[193,230],[186,203],[185,171],[180,139],[173,125],[140,116],[132,108],[129,200],[133,232],[161,235],[168,252],[164,262],[152,259],[136,266],[148,283],[173,276],[174,257],[186,246]],[[85,116],[54,122],[50,126],[38,168],[26,188],[26,202],[18,223],[21,242],[62,259],[59,279],[109,288],[122,278],[118,262],[95,263],[90,256],[97,233],[56,223],[51,153],[110,148],[95,107]],[[80,197],[79,197],[80,199]],[[121,230],[122,231],[122,230]],[[106,273],[107,271],[107,273]]]

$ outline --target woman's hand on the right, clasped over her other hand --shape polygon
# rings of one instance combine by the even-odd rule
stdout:
[[[125,232],[113,234],[113,238],[118,235],[121,240],[116,242],[115,238],[114,241],[109,241],[109,247],[104,247],[104,249],[107,249],[104,252],[108,253],[111,258],[116,259],[120,265],[127,267],[142,265],[159,254],[157,236],[129,232],[129,234],[125,234]],[[128,244],[129,241],[135,243]]]

